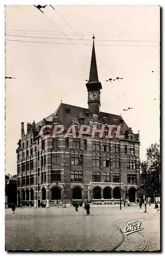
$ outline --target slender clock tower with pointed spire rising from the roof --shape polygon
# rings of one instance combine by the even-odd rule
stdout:
[[[90,68],[89,80],[86,83],[86,87],[88,90],[88,108],[93,114],[99,115],[100,105],[101,105],[100,90],[102,89],[102,86],[98,80],[98,74],[97,74],[94,35],[92,38],[93,38],[93,48],[92,48],[92,57],[91,57],[91,68]]]

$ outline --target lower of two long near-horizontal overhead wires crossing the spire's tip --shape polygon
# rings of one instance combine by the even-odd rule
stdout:
[[[55,45],[75,45],[75,46],[84,46],[84,44],[69,44],[63,42],[39,42],[39,41],[25,41],[25,40],[13,40],[13,39],[6,39],[6,41],[17,41],[17,42],[36,42],[40,44],[55,44]],[[88,44],[88,46],[92,46],[92,44]],[[96,45],[96,46],[114,46],[114,47],[159,47],[159,46],[124,46],[124,45]],[[78,48],[78,47],[77,47]],[[79,48],[78,48],[79,49]],[[80,49],[79,49],[80,50]]]

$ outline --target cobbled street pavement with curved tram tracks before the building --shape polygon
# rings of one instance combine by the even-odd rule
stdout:
[[[160,213],[136,206],[6,209],[6,250],[153,251],[160,250]],[[142,220],[143,230],[125,236],[127,222]]]

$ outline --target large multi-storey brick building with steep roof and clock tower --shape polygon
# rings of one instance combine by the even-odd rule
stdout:
[[[93,49],[88,91],[88,109],[61,103],[59,108],[39,123],[21,123],[21,138],[17,153],[18,206],[54,206],[74,201],[92,201],[93,204],[113,204],[129,197],[139,198],[139,133],[133,134],[119,115],[100,112],[101,83],[98,79],[95,46]],[[59,137],[41,137],[43,125],[71,124],[93,126],[121,125],[122,139],[82,138],[64,134]],[[77,128],[78,129],[78,128]]]

